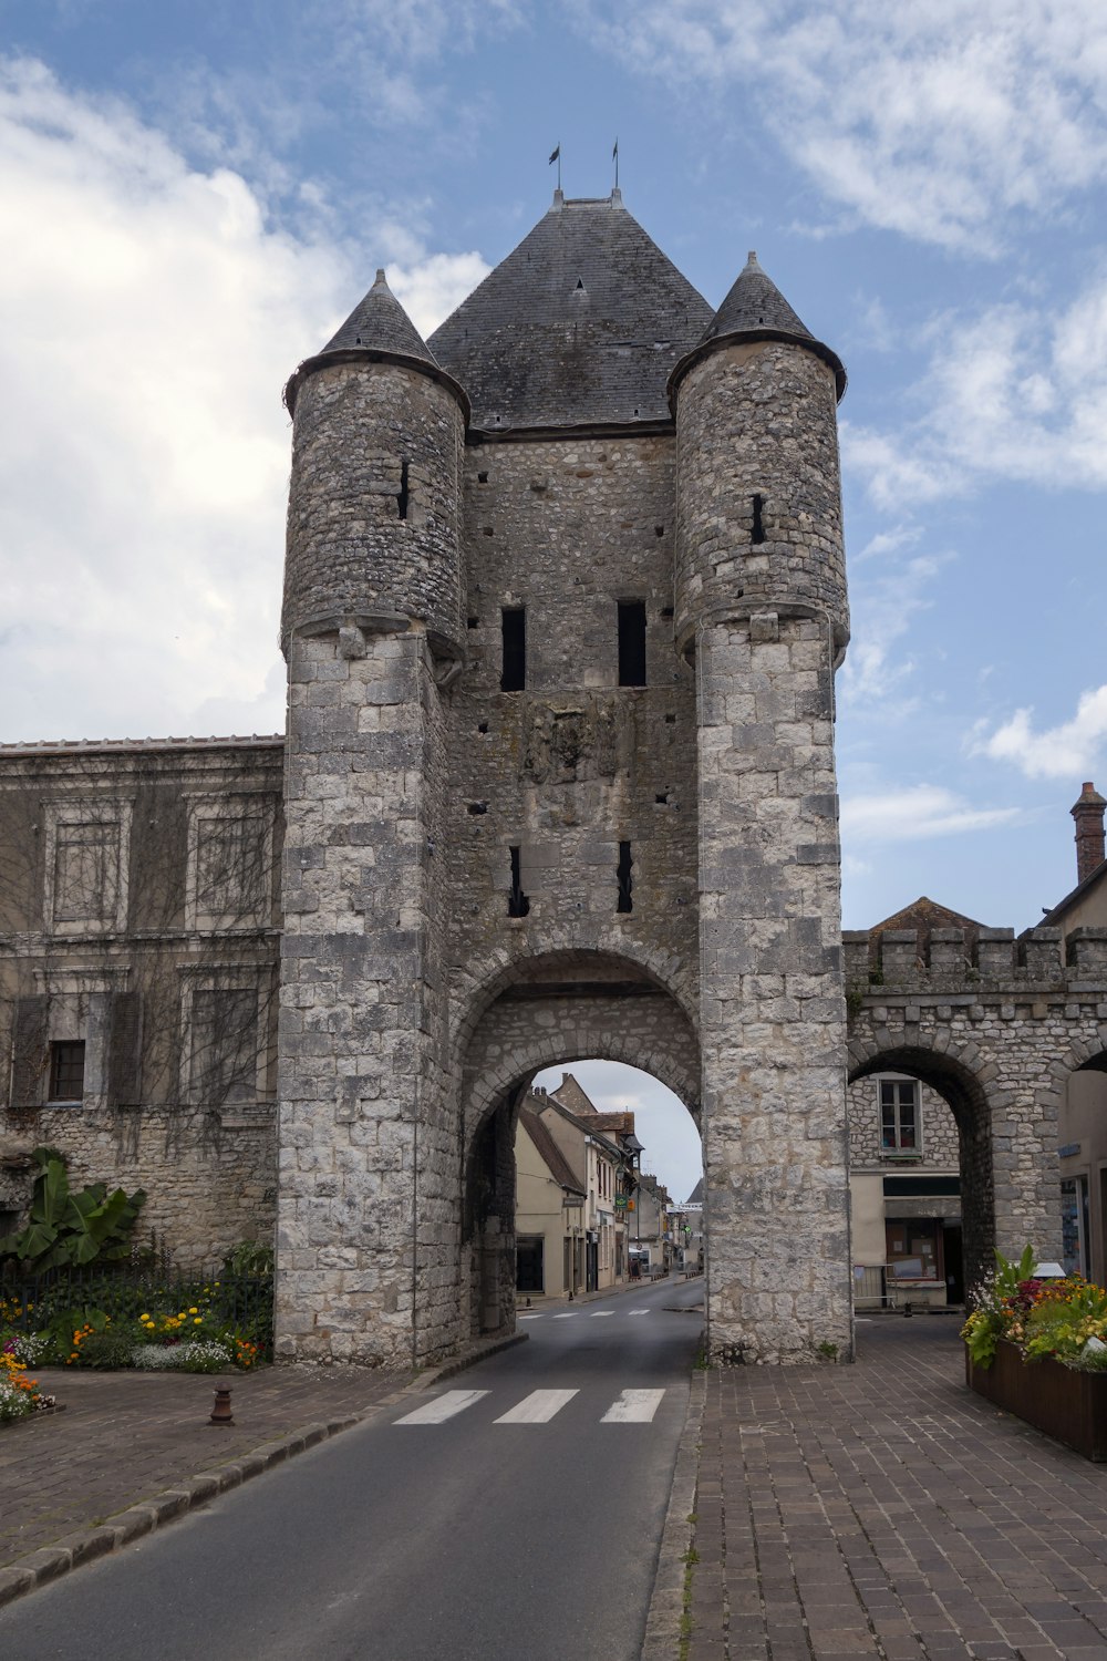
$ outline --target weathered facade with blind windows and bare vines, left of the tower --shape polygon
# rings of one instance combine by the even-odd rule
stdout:
[[[0,751],[0,1139],[144,1188],[138,1237],[183,1269],[272,1237],[280,761],[266,739]],[[209,1031],[206,997],[239,1025]],[[50,1100],[55,1043],[85,1045],[80,1101]]]

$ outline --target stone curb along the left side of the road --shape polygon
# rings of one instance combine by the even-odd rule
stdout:
[[[153,1533],[154,1528],[164,1528],[174,1518],[184,1516],[199,1505],[207,1505],[209,1500],[227,1493],[231,1488],[241,1488],[251,1477],[261,1477],[262,1472],[272,1470],[274,1465],[284,1465],[285,1460],[317,1447],[320,1442],[329,1442],[330,1437],[337,1437],[342,1430],[352,1430],[354,1425],[373,1418],[388,1407],[395,1407],[405,1395],[427,1390],[441,1379],[451,1379],[455,1374],[463,1372],[478,1360],[485,1360],[488,1355],[495,1355],[498,1350],[526,1342],[528,1337],[528,1332],[514,1332],[506,1339],[490,1339],[485,1344],[475,1344],[455,1360],[443,1362],[441,1367],[433,1367],[420,1374],[418,1379],[412,1379],[410,1384],[400,1385],[390,1395],[383,1395],[378,1402],[360,1412],[307,1425],[302,1430],[290,1432],[287,1437],[277,1437],[274,1442],[262,1442],[261,1447],[252,1448],[249,1453],[239,1453],[237,1458],[229,1460],[226,1465],[188,1477],[173,1488],[166,1488],[164,1493],[154,1495],[153,1500],[141,1500],[138,1505],[128,1507],[126,1512],[116,1512],[106,1523],[100,1523],[95,1528],[75,1530],[51,1546],[43,1546],[25,1558],[17,1558],[15,1563],[0,1568],[0,1608],[15,1598],[22,1598],[23,1593],[33,1591],[37,1586],[45,1586],[48,1581],[58,1580],[60,1575],[68,1575],[70,1570],[80,1568],[81,1563],[91,1563],[110,1551],[119,1551],[133,1540],[141,1540],[143,1535]]]

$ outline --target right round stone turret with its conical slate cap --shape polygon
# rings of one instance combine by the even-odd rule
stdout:
[[[699,623],[827,616],[848,639],[836,402],[845,369],[750,254],[669,377],[677,420],[677,649]]]

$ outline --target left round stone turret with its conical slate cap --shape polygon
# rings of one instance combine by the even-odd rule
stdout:
[[[427,628],[465,641],[460,556],[468,400],[383,271],[285,387],[294,420],[282,648],[294,630]]]

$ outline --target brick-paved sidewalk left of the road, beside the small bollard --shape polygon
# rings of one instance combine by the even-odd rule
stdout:
[[[0,1430],[0,1568],[267,1442],[380,1405],[413,1374],[236,1374],[231,1428],[207,1422],[214,1380],[202,1374],[37,1367],[35,1377],[65,1412]]]

